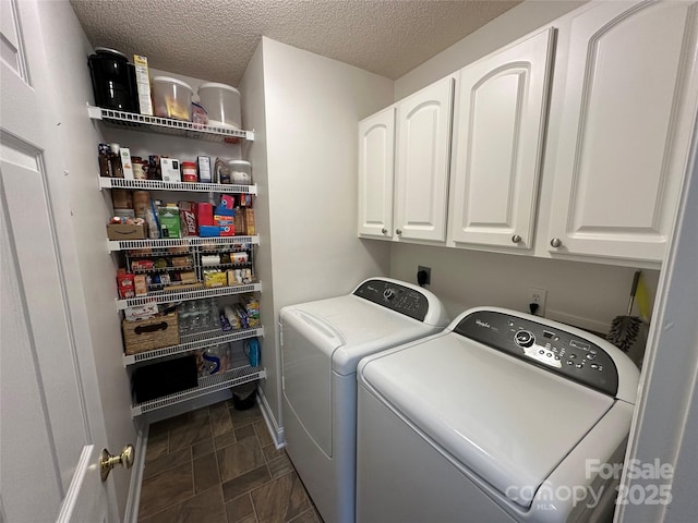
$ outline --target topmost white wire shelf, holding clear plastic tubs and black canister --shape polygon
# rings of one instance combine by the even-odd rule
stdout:
[[[101,120],[110,125],[134,131],[155,132],[227,144],[237,144],[242,139],[254,141],[253,131],[202,125],[170,118],[149,117],[147,114],[136,114],[94,106],[88,106],[87,110],[89,118],[93,120]]]

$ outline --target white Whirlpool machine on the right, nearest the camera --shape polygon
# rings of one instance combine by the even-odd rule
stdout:
[[[364,358],[357,521],[610,521],[638,379],[601,338],[494,307]]]

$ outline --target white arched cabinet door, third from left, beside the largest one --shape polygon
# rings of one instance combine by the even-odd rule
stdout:
[[[449,240],[532,248],[553,29],[460,71]]]

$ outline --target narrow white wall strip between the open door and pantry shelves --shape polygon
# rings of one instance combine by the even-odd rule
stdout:
[[[77,266],[67,270],[82,276],[84,305],[89,323],[94,362],[109,450],[120,451],[136,442],[131,419],[131,393],[122,365],[121,327],[115,306],[116,272],[107,252],[105,200],[97,187],[97,144],[101,136],[87,119],[86,102],[94,102],[87,57],[92,53],[82,27],[68,2],[40,2],[41,31],[50,75],[57,87],[55,139],[63,147],[68,171],[65,191],[70,198]],[[50,372],[50,369],[48,370]],[[103,429],[104,430],[104,429]],[[123,514],[130,471],[109,477],[116,487],[118,512]]]

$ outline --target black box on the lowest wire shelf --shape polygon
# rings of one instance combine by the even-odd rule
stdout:
[[[189,355],[139,367],[133,373],[135,401],[155,400],[198,385],[196,356]]]

